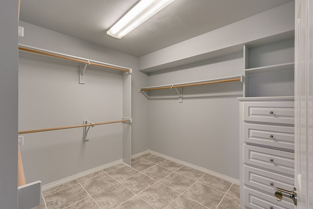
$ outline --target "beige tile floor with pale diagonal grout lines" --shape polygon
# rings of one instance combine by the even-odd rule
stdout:
[[[239,186],[145,154],[45,190],[34,209],[240,209]]]

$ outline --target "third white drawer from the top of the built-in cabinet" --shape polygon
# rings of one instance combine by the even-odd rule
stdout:
[[[294,176],[294,154],[291,152],[245,144],[244,163]]]

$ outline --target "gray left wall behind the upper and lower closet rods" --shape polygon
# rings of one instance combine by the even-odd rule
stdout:
[[[19,43],[41,47],[133,69],[132,153],[149,149],[148,101],[137,92],[147,85],[147,75],[137,69],[137,58],[109,48],[21,22],[24,37]],[[120,73],[88,67],[86,84],[78,84],[78,63],[20,52],[19,129],[31,130],[119,120],[122,117]],[[83,129],[24,135],[21,147],[26,182],[43,184],[122,158],[121,124],[95,126],[89,141]]]

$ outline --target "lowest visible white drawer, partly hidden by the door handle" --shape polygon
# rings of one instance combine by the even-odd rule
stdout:
[[[282,201],[277,201],[274,194],[268,195],[246,187],[244,193],[244,204],[251,209],[270,209],[270,207],[273,209],[294,209],[293,203],[287,202],[285,197]]]

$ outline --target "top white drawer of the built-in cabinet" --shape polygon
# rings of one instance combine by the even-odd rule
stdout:
[[[293,101],[245,102],[244,120],[294,124],[294,102]]]

